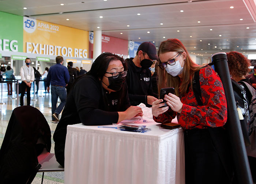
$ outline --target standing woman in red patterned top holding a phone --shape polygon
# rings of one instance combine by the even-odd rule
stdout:
[[[184,129],[186,184],[228,184],[231,182],[229,146],[223,126],[227,121],[227,103],[221,79],[210,67],[197,65],[178,39],[159,46],[158,90],[174,87],[174,94],[153,102],[156,122],[171,122],[177,116]],[[199,71],[200,105],[192,86]]]

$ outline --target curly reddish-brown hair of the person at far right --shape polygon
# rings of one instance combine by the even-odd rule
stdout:
[[[229,72],[232,77],[246,76],[251,69],[251,62],[243,54],[239,52],[227,53],[227,64],[229,65]]]

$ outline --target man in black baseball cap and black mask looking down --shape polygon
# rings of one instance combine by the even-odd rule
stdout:
[[[151,71],[149,70],[153,60],[158,60],[154,44],[143,42],[140,44],[135,58],[130,58],[127,61],[126,83],[131,105],[144,103],[150,107],[158,98],[158,94],[155,94],[152,89]]]

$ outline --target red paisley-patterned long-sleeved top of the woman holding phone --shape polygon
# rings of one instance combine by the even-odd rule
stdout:
[[[172,121],[177,115],[178,123],[183,129],[203,129],[207,126],[220,127],[227,121],[227,102],[221,79],[210,67],[202,68],[199,72],[199,81],[202,93],[203,106],[198,106],[191,86],[188,93],[181,95],[183,103],[181,113],[169,108],[159,114],[155,122]]]

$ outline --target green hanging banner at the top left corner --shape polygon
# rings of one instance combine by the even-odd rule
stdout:
[[[23,52],[22,16],[0,12],[0,51]]]

